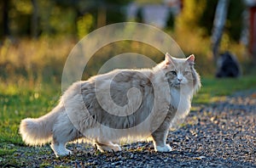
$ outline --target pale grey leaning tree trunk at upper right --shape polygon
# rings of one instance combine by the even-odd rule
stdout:
[[[230,0],[218,0],[218,5],[215,11],[212,29],[212,54],[213,59],[217,60],[219,43],[224,31],[224,25],[227,18]]]

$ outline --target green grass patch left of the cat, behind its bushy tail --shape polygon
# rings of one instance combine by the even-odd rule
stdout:
[[[0,146],[2,143],[21,143],[20,120],[38,117],[55,106],[61,95],[61,87],[38,85],[29,88],[15,84],[0,85]]]

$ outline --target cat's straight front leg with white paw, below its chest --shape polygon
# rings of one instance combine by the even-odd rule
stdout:
[[[154,150],[156,152],[170,152],[172,148],[169,144],[166,144],[166,138],[169,131],[169,124],[167,120],[165,120],[161,126],[152,133],[153,141],[154,141]]]

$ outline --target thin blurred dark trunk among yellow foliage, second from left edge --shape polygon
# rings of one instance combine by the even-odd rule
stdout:
[[[38,0],[32,0],[32,37],[37,38],[38,37]]]

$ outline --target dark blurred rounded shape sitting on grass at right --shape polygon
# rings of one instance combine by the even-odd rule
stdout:
[[[235,57],[230,52],[220,54],[217,59],[216,77],[238,77],[241,76],[240,65]]]

